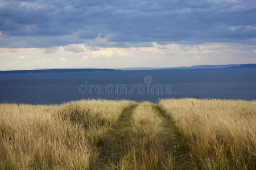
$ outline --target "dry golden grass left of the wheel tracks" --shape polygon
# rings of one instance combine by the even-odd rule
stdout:
[[[133,101],[0,104],[0,169],[86,169],[97,142]]]

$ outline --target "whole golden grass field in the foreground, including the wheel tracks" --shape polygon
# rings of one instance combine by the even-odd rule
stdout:
[[[0,169],[254,169],[256,101],[0,104]]]

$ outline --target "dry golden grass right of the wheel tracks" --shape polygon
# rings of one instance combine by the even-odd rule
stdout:
[[[193,169],[255,169],[256,101],[168,99]]]

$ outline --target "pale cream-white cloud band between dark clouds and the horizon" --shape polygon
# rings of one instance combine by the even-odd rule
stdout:
[[[19,59],[18,57],[20,56],[24,56],[24,59]],[[22,65],[12,65],[11,63],[14,63],[15,59],[18,63],[25,59],[26,62],[23,62]],[[64,67],[64,64],[65,67],[120,68],[229,63],[256,63],[256,45],[226,42],[196,45],[158,44],[158,42],[154,42],[151,46],[100,48],[97,51],[90,50],[86,46],[86,51],[81,53],[67,52],[61,46],[53,54],[44,54],[44,49],[42,48],[0,48],[0,67],[2,70],[44,67],[61,68]]]

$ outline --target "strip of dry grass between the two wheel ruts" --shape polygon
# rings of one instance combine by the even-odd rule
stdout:
[[[152,107],[143,102],[135,108],[119,169],[174,169],[170,138]]]

